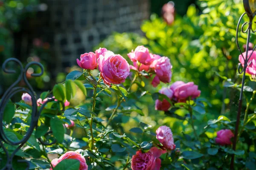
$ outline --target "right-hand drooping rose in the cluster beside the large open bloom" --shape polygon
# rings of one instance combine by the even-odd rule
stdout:
[[[171,82],[172,65],[168,57],[161,57],[160,59],[154,60],[150,67],[154,69],[161,82]]]

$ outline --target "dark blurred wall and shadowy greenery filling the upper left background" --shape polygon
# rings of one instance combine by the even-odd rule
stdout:
[[[0,62],[10,57],[24,64],[39,61],[43,77],[31,80],[47,90],[76,65],[76,58],[113,32],[143,34],[140,26],[152,13],[161,15],[168,0],[0,0]],[[186,14],[195,0],[173,0],[178,15]],[[120,42],[125,43],[125,42]],[[15,65],[12,66],[15,68]],[[30,68],[29,75],[40,72]],[[12,84],[15,75],[0,75],[0,94]],[[34,82],[33,82],[34,81]],[[60,80],[59,80],[60,81]],[[58,79],[57,79],[58,82]],[[21,82],[22,85],[22,82]]]

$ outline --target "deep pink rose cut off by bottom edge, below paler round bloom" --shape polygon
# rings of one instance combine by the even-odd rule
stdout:
[[[160,170],[161,159],[159,158],[163,153],[161,149],[157,147],[151,147],[147,153],[143,153],[141,150],[136,152],[136,155],[131,158],[132,170]]]

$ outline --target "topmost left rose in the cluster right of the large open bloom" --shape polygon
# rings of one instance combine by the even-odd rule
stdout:
[[[140,62],[145,65],[151,64],[151,58],[148,52],[148,48],[145,48],[143,45],[137,46],[135,51],[131,51],[131,53],[127,54],[132,62]]]

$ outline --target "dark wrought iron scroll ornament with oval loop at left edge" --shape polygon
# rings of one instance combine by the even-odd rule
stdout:
[[[7,59],[4,63],[3,63],[3,71],[7,74],[13,74],[16,73],[15,70],[9,70],[6,68],[7,64],[9,62],[16,62],[16,64],[20,67],[20,75],[17,78],[17,80],[5,91],[5,93],[3,94],[3,97],[1,99],[0,102],[0,122],[2,122],[3,124],[3,115],[4,115],[4,110],[6,107],[7,102],[9,101],[9,99],[12,98],[12,96],[16,93],[20,93],[20,92],[26,92],[28,93],[30,96],[32,96],[32,111],[31,111],[31,122],[29,125],[29,128],[27,130],[27,133],[25,136],[23,136],[22,139],[20,139],[19,141],[12,141],[11,139],[9,139],[6,136],[6,133],[4,132],[4,126],[0,126],[0,145],[4,151],[4,153],[6,153],[6,164],[4,165],[4,167],[1,170],[14,170],[13,166],[12,166],[12,162],[14,159],[15,154],[18,152],[18,150],[20,150],[21,147],[23,147],[23,145],[29,140],[30,136],[33,133],[33,130],[37,128],[38,126],[38,119],[39,116],[44,108],[44,106],[48,103],[48,102],[52,102],[54,101],[54,99],[48,99],[39,109],[38,111],[38,107],[37,107],[37,100],[35,97],[35,92],[33,91],[32,86],[29,84],[27,78],[26,78],[26,72],[29,69],[29,67],[31,65],[38,65],[41,68],[41,73],[39,74],[31,74],[32,77],[39,77],[41,75],[43,75],[44,73],[44,67],[41,63],[39,62],[29,62],[25,68],[23,68],[22,63],[16,59],[16,58],[9,58]],[[21,87],[17,87],[18,83],[23,79],[23,81],[25,82],[27,88],[21,88]],[[64,103],[62,103],[62,106],[64,106]],[[64,108],[64,107],[63,107]],[[48,135],[49,133],[52,133],[51,131],[48,131],[45,135]],[[41,144],[43,145],[52,145],[56,142],[56,140],[54,140],[51,143],[47,143],[41,140],[41,138],[38,139],[40,141]],[[7,150],[7,148],[5,147],[5,145],[3,143],[12,145],[12,146],[17,146],[17,148],[12,152],[9,153],[9,151]],[[1,158],[0,158],[1,161]],[[3,160],[2,160],[3,161]],[[29,169],[29,161],[26,160],[18,160],[18,162],[24,162],[27,164],[27,168],[26,170]]]

